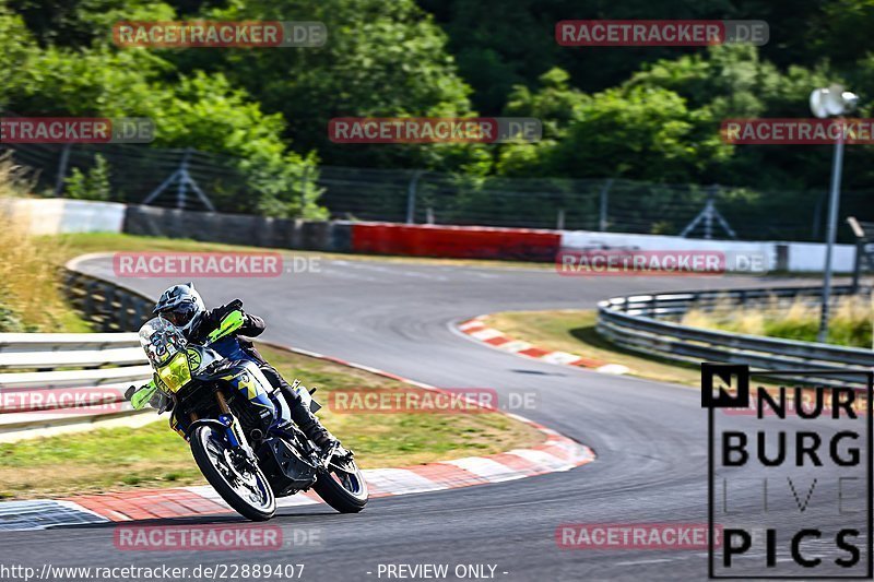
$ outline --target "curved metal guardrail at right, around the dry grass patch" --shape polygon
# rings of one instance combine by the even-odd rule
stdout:
[[[614,297],[598,306],[598,332],[626,349],[672,360],[746,364],[763,377],[767,377],[768,370],[803,371],[804,379],[810,381],[842,384],[839,376],[817,376],[816,372],[871,371],[874,351],[704,330],[678,323],[692,307],[723,310],[751,304],[815,301],[819,293],[819,287],[777,287]],[[852,287],[836,287],[832,293],[838,297],[850,295]],[[795,379],[800,380],[801,375]],[[847,377],[847,381],[852,380],[858,382],[859,377]]]

